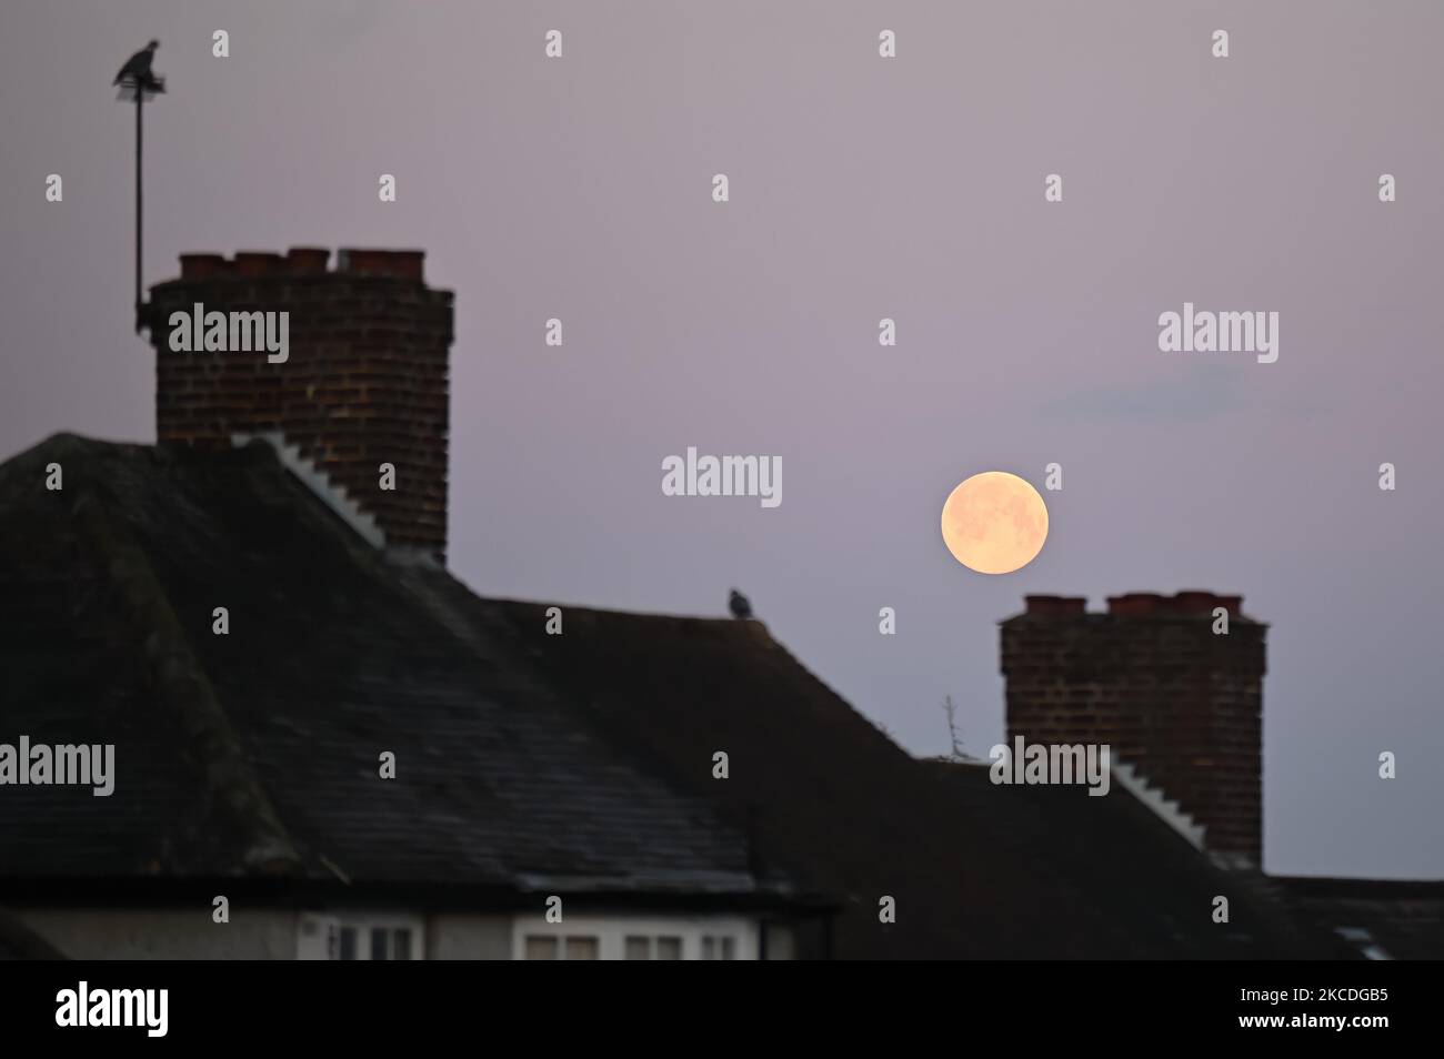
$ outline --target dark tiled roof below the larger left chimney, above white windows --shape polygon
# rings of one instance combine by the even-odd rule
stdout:
[[[263,443],[56,436],[0,469],[0,742],[114,743],[117,772],[110,798],[0,789],[6,877],[775,889],[705,799],[449,628]]]

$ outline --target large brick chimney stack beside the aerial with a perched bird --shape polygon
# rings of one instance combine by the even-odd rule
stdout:
[[[387,547],[446,557],[452,294],[422,278],[420,251],[182,254],[150,290],[156,437],[228,447],[280,433],[370,514]],[[172,313],[289,313],[289,353],[172,352]],[[396,467],[381,489],[380,466]]]

